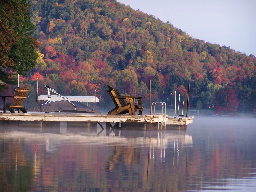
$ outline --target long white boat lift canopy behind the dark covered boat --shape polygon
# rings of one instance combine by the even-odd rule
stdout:
[[[75,101],[75,102],[95,102],[99,103],[99,98],[98,97],[83,97],[83,96],[62,96],[69,101]],[[51,101],[60,101],[64,100],[62,97],[59,95],[51,95]],[[39,95],[38,101],[47,101],[48,100],[48,95]]]

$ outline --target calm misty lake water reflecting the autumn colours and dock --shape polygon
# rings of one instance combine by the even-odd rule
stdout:
[[[166,131],[0,126],[0,191],[256,191],[255,118],[196,116]]]

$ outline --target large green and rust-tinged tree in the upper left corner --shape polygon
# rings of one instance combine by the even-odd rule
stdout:
[[[13,84],[12,73],[26,74],[36,66],[38,43],[31,35],[35,25],[30,22],[27,0],[2,0],[0,4],[0,69],[2,84]],[[8,87],[3,86],[3,89]],[[1,87],[2,89],[2,87]]]

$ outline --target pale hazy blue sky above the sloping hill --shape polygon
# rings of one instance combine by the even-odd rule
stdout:
[[[117,0],[196,39],[256,56],[256,0]]]

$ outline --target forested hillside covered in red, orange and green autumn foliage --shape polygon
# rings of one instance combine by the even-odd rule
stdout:
[[[195,39],[171,22],[114,0],[28,3],[40,44],[37,66],[20,77],[30,89],[31,103],[37,78],[39,95],[46,94],[44,85],[63,95],[94,96],[96,90],[105,109],[113,103],[107,84],[123,94],[144,96],[148,104],[152,80],[152,101],[177,91],[186,103],[190,83],[191,107],[202,103],[202,108],[227,113],[255,110],[253,55]]]

